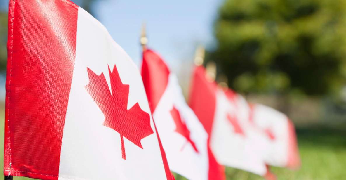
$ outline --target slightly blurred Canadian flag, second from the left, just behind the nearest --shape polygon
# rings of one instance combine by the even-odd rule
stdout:
[[[186,104],[176,75],[151,50],[143,52],[142,77],[172,171],[191,180],[225,179],[208,147],[208,134]]]

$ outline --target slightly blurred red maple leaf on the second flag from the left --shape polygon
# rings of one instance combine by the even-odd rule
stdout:
[[[193,149],[196,152],[198,152],[196,145],[194,144],[194,142],[190,138],[190,131],[189,131],[188,127],[186,127],[186,124],[182,121],[179,111],[173,106],[173,108],[170,112],[171,112],[171,116],[173,117],[173,120],[175,123],[175,132],[184,136],[186,138],[186,143],[190,143],[191,146],[193,147]],[[183,148],[185,147],[185,144],[181,148],[181,150],[183,150]]]

